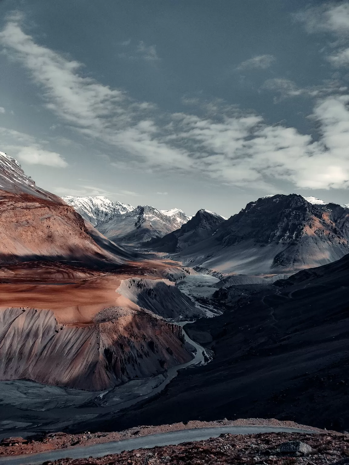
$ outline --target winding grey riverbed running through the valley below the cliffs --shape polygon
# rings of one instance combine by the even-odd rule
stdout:
[[[190,275],[178,284],[181,292],[195,297],[210,298],[219,279],[204,274]],[[211,305],[195,305],[205,310],[207,317],[221,313]],[[174,321],[184,326],[187,321]],[[27,380],[0,381],[0,439],[9,436],[26,437],[34,432],[57,432],[71,425],[111,419],[114,412],[134,405],[161,392],[181,368],[208,363],[210,357],[201,345],[183,331],[186,342],[194,347],[194,359],[170,368],[148,379],[129,381],[107,391],[91,392],[66,387],[43,385]]]

